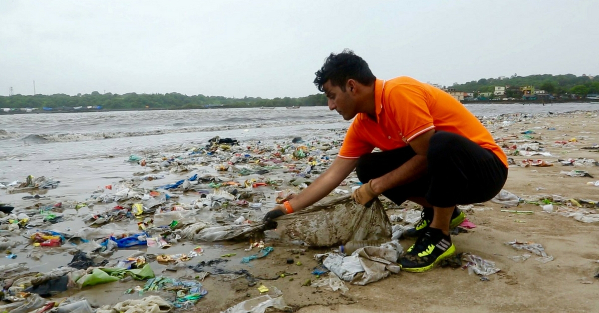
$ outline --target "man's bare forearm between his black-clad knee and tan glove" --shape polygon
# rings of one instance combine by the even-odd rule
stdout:
[[[376,193],[383,193],[393,187],[401,186],[417,180],[426,173],[428,162],[425,156],[416,154],[412,159],[401,165],[399,168],[375,178],[371,187]]]

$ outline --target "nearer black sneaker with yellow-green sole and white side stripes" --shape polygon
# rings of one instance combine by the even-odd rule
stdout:
[[[426,272],[453,254],[455,254],[455,246],[451,242],[451,237],[444,235],[440,229],[426,227],[398,263],[402,271]]]

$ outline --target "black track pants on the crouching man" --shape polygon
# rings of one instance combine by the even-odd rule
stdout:
[[[412,147],[369,153],[358,159],[362,183],[399,168],[415,156]],[[428,172],[411,183],[383,192],[400,205],[409,197],[425,197],[431,205],[450,207],[491,200],[507,180],[507,168],[491,150],[450,132],[437,132],[428,148]]]

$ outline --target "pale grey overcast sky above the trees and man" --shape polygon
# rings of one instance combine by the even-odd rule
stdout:
[[[599,75],[599,1],[0,1],[0,95],[298,97],[351,48],[379,78]]]

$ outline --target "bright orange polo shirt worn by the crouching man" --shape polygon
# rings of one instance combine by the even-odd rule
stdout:
[[[347,130],[339,157],[357,159],[374,148],[387,151],[406,145],[430,129],[457,133],[491,150],[507,167],[507,156],[491,133],[449,93],[410,77],[376,80],[376,117],[358,113]]]

